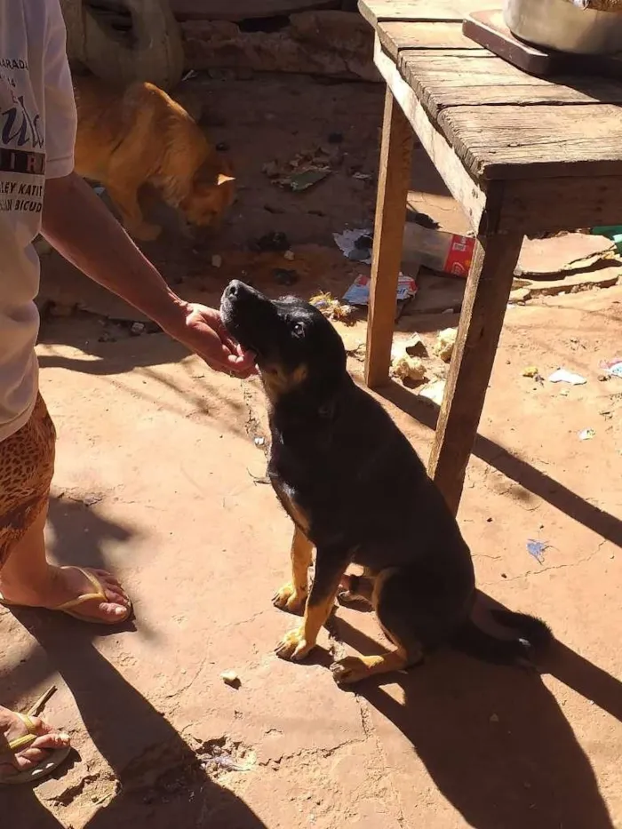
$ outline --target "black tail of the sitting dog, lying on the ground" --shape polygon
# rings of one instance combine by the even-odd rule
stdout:
[[[553,642],[550,628],[541,619],[511,610],[490,610],[490,615],[499,625],[513,630],[516,637],[498,639],[469,618],[454,635],[453,647],[486,662],[511,665],[542,656]]]

